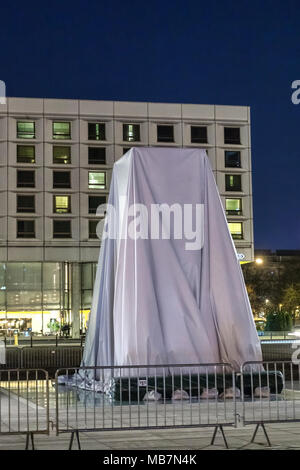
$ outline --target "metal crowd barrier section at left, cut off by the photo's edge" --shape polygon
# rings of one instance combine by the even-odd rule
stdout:
[[[40,370],[0,371],[0,435],[25,434],[26,447],[35,434],[49,434],[49,380]]]

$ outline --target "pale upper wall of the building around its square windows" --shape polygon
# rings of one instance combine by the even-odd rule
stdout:
[[[34,121],[35,139],[17,138],[17,121]],[[71,123],[71,139],[55,140],[53,121]],[[106,126],[105,141],[88,140],[88,123]],[[140,141],[123,141],[123,124],[140,124]],[[157,124],[174,126],[174,142],[157,141]],[[191,126],[207,126],[205,144],[191,142]],[[239,145],[224,143],[224,127],[239,127]],[[18,163],[17,145],[34,144],[34,164]],[[53,146],[71,146],[71,163],[54,164]],[[250,110],[246,106],[215,106],[176,103],[138,103],[8,98],[0,104],[0,263],[88,263],[99,254],[99,240],[89,238],[89,221],[97,216],[88,213],[88,196],[108,195],[112,166],[130,146],[173,146],[205,148],[225,205],[226,197],[242,199],[241,215],[228,216],[229,222],[243,223],[243,238],[235,240],[237,251],[245,261],[253,260],[253,211],[251,184]],[[105,147],[106,164],[89,165],[88,147]],[[225,150],[241,152],[241,168],[226,168]],[[18,188],[17,170],[34,170],[35,187]],[[69,170],[70,189],[53,189],[52,172]],[[105,171],[105,189],[89,189],[89,171]],[[225,175],[240,174],[242,190],[228,192]],[[18,213],[17,195],[35,195],[35,213]],[[70,214],[53,213],[53,196],[69,195]],[[53,237],[53,220],[71,221],[72,238]],[[18,238],[17,221],[34,220],[35,238]],[[71,263],[71,264],[70,264]],[[75,266],[74,264],[74,266]],[[74,268],[75,269],[75,268]],[[75,276],[75,275],[74,275]],[[78,282],[78,275],[75,276]],[[74,278],[75,278],[74,277]],[[72,296],[71,296],[72,297]],[[74,296],[73,296],[74,297]],[[78,303],[78,299],[73,302]],[[60,309],[62,307],[60,306]]]

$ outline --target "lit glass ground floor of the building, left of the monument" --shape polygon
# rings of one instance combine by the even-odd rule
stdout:
[[[0,262],[0,336],[85,333],[96,263]]]

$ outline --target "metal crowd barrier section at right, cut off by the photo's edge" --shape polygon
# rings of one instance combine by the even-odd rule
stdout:
[[[262,367],[258,370],[258,365]],[[256,424],[267,443],[265,425],[300,421],[300,365],[292,361],[246,362],[241,367],[243,424]]]

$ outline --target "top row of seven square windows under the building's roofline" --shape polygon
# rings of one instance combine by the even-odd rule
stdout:
[[[174,142],[174,126],[170,124],[157,124],[157,142]],[[35,121],[17,121],[18,139],[35,139]],[[53,139],[71,139],[71,122],[53,121]],[[88,140],[106,140],[105,122],[88,123]],[[123,124],[123,141],[140,142],[140,124]],[[207,126],[191,126],[191,143],[206,144]],[[224,143],[229,145],[240,145],[241,136],[239,127],[224,127]]]

